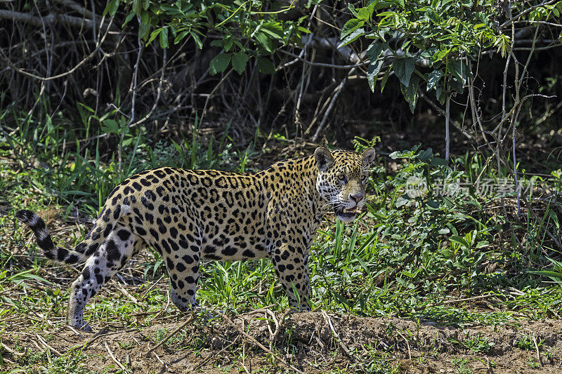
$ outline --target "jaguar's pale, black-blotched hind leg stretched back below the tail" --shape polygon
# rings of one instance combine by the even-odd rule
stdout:
[[[84,307],[101,286],[117,273],[142,246],[142,239],[126,227],[115,227],[102,245],[86,260],[82,274],[70,288],[67,321],[70,326],[91,331],[84,322]]]

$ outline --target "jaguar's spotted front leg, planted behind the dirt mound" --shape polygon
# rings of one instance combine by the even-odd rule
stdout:
[[[299,311],[311,310],[308,305],[311,288],[308,279],[308,249],[282,243],[271,251],[271,260],[289,298],[289,307]]]

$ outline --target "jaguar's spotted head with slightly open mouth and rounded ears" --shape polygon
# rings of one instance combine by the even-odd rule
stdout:
[[[374,149],[362,154],[337,149],[330,152],[319,147],[314,152],[318,178],[316,189],[322,199],[332,206],[336,217],[351,222],[365,205],[367,169],[374,160]]]

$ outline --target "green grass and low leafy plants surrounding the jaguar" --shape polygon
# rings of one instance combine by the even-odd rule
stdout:
[[[84,123],[93,120],[86,116]],[[107,119],[96,121],[103,124]],[[62,326],[68,290],[60,287],[57,278],[78,275],[70,267],[53,268],[55,265],[47,264],[36,255],[34,241],[22,251],[29,232],[15,222],[14,211],[24,207],[34,211],[55,208],[65,217],[77,211],[82,218],[93,217],[117,183],[145,168],[169,165],[243,171],[249,158],[259,156],[233,149],[227,132],[220,140],[211,139],[205,147],[192,138],[150,143],[142,129],[125,130],[119,123],[109,121],[106,125],[114,127],[105,130],[113,135],[126,131],[127,142],[120,145],[121,168],[115,154],[105,154],[107,149],[99,140],[87,145],[76,141],[94,135],[92,126],[65,132],[62,119],[52,119],[44,126],[22,119],[15,134],[0,132],[0,157],[10,160],[0,164],[0,187],[5,191],[0,196],[0,236],[6,238],[0,241],[0,329],[6,329],[4,319],[8,315],[25,317],[30,331]],[[64,153],[62,142],[67,142]],[[364,147],[361,142],[356,145]],[[374,167],[371,196],[362,218],[351,225],[327,222],[318,232],[310,261],[311,307],[455,326],[559,318],[562,288],[559,283],[545,283],[559,280],[556,273],[562,270],[556,260],[559,253],[552,249],[554,243],[545,234],[545,229],[556,232],[559,205],[537,201],[542,211],[537,215],[527,213],[519,222],[512,213],[506,215],[495,208],[500,201],[498,194],[483,196],[473,187],[466,196],[440,194],[438,185],[443,180],[476,182],[478,175],[492,182],[509,178],[507,171],[486,166],[482,157],[466,154],[448,167],[431,150],[414,148],[393,156],[406,162],[396,173],[387,173],[382,164]],[[428,190],[420,196],[410,195],[407,187],[412,178],[426,182]],[[542,180],[525,173],[521,178],[561,192],[562,183],[554,172],[552,178],[541,177]],[[535,194],[540,190],[528,192],[530,198]],[[60,214],[54,217],[60,218]],[[510,222],[519,243],[509,229]],[[80,223],[74,227],[77,229],[72,229],[71,234],[57,236],[55,241],[61,245],[81,241],[88,226]],[[491,265],[495,268],[487,271]],[[115,277],[86,307],[86,319],[93,323],[111,321],[128,328],[150,326],[168,303],[164,263],[155,251],[148,251],[129,268],[120,274],[129,284],[140,283],[126,287],[138,303],[121,293]],[[277,310],[288,306],[269,260],[204,262],[201,275],[197,297],[207,309],[239,314],[273,304]],[[159,279],[159,285],[150,288]],[[485,302],[495,310],[483,312],[471,302],[448,303],[475,295],[488,295]],[[166,313],[179,316],[173,304]],[[166,333],[157,332],[154,339],[161,340]],[[184,339],[177,335],[166,344],[178,346]],[[290,342],[290,337],[285,337],[285,342]],[[459,344],[481,353],[492,347],[479,336]],[[202,342],[195,341],[182,349],[197,351],[201,347]],[[288,344],[284,353],[291,354],[290,347]],[[521,338],[521,348],[529,347],[530,342]],[[387,352],[374,348],[369,352],[371,361],[367,365],[373,373],[398,370],[388,360]],[[45,360],[41,354],[44,353],[25,356],[18,364],[21,368],[32,367],[37,360]],[[64,368],[66,372],[81,373],[81,359],[84,356],[65,354],[53,359],[45,372],[58,373]],[[468,366],[457,364],[459,373],[471,372]]]

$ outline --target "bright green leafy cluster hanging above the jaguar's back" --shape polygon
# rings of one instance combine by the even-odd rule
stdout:
[[[115,15],[120,3],[109,1],[107,13]],[[230,65],[242,74],[249,58],[256,58],[260,72],[273,74],[275,66],[264,56],[282,45],[301,44],[302,34],[310,32],[301,26],[306,16],[296,21],[277,17],[292,8],[280,3],[266,7],[261,1],[178,0],[169,4],[133,0],[124,23],[138,17],[138,36],[146,44],[157,39],[162,48],[167,48],[170,40],[178,44],[192,38],[202,49],[202,38],[210,32],[216,34],[210,46],[221,47],[223,52],[211,60],[211,74],[224,72]]]

